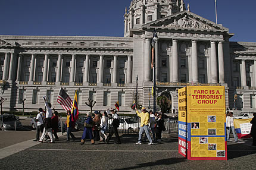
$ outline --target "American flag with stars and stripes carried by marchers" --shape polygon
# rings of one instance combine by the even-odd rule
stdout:
[[[65,111],[72,110],[73,102],[72,102],[70,96],[67,95],[67,93],[65,92],[63,87],[61,87],[61,89],[60,89],[60,93],[57,97],[57,102],[60,103],[61,106],[63,106],[63,109]]]

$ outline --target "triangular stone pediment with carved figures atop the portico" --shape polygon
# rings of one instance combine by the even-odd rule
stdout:
[[[198,29],[198,30],[222,30],[228,32],[229,29],[221,24],[207,20],[189,11],[182,11],[151,23],[144,24],[142,27],[163,27],[165,29]]]

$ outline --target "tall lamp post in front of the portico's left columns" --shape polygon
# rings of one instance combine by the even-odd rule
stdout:
[[[152,42],[151,42],[151,45],[153,46],[154,48],[154,59],[153,59],[153,103],[154,103],[154,113],[156,111],[156,106],[155,106],[155,88],[156,88],[156,83],[155,83],[155,43],[157,42],[157,30],[155,29],[154,30],[154,33],[153,33],[153,39],[152,39]]]

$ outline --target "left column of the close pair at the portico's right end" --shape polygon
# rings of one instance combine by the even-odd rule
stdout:
[[[211,83],[218,83],[216,42],[211,42]]]

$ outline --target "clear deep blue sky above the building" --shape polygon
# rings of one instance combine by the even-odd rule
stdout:
[[[185,0],[191,12],[215,22],[214,0]],[[0,34],[123,36],[130,0],[0,0]],[[230,41],[256,42],[256,1],[217,0],[218,23]]]

